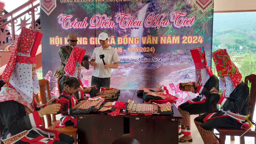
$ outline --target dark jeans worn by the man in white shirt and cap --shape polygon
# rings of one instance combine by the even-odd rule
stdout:
[[[92,76],[91,86],[95,86],[100,91],[101,87],[110,87],[110,77],[109,78],[98,78]]]

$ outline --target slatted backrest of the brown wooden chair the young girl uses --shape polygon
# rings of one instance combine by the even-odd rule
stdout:
[[[47,97],[48,97],[48,100],[51,99],[49,81],[46,80],[46,79],[40,79],[40,80],[38,80],[38,82],[39,82],[39,87],[40,87],[40,97],[41,97],[42,104],[46,104],[46,103],[47,103],[47,99],[46,99],[46,93],[45,93],[45,86],[46,86],[46,90],[47,90]],[[51,115],[46,115],[46,119],[47,119],[47,125],[48,125],[48,127],[49,127],[53,122],[56,121],[55,115],[52,115],[52,119],[51,119]]]

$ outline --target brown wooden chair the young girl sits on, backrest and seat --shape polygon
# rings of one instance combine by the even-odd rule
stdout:
[[[45,86],[47,89],[47,96],[48,96],[48,100],[51,99],[51,95],[50,95],[50,85],[49,85],[49,81],[46,79],[41,79],[39,80],[39,86],[40,86],[40,96],[41,96],[41,101],[42,104],[47,103],[46,100],[46,93],[45,93]],[[47,119],[47,125],[48,128],[47,129],[51,129],[51,130],[57,130],[60,131],[61,133],[64,133],[66,135],[69,136],[73,136],[75,139],[75,143],[77,142],[77,128],[74,128],[74,126],[66,126],[66,127],[58,127],[55,128],[56,124],[60,122],[60,120],[56,121],[56,116],[53,114],[52,115],[52,120],[51,120],[51,115],[46,115],[46,119]]]

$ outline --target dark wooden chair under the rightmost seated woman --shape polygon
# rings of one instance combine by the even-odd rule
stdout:
[[[254,112],[254,107],[255,107],[255,102],[256,102],[256,75],[251,74],[249,76],[246,76],[245,80],[244,80],[246,85],[248,85],[248,80],[249,80],[249,82],[251,82],[250,100],[249,100],[249,108],[248,108],[248,113],[250,114],[249,120],[253,124],[255,124],[252,121],[252,117],[253,117],[253,112]],[[244,144],[244,136],[255,137],[254,143],[256,143],[255,129],[249,130],[247,132],[243,129],[229,129],[229,128],[218,128],[216,130],[219,132],[219,138],[217,136],[216,137],[219,139],[220,144],[225,144],[226,135],[240,136],[240,144]]]

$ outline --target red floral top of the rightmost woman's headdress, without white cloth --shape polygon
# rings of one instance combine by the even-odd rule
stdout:
[[[242,75],[239,72],[238,68],[231,61],[230,56],[227,53],[226,49],[219,49],[211,53],[218,76],[226,77],[230,76],[235,87],[238,86],[242,79]]]

